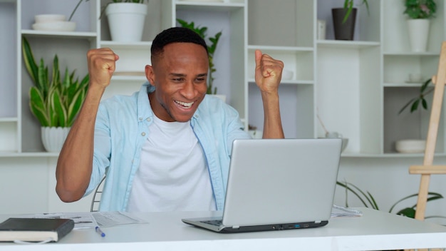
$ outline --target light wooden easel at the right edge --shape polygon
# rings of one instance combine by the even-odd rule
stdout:
[[[429,190],[430,175],[446,174],[446,165],[432,165],[437,142],[438,125],[442,108],[443,93],[446,84],[446,41],[442,42],[440,60],[438,62],[437,75],[432,77],[435,84],[430,113],[429,128],[427,130],[425,158],[422,165],[412,165],[410,174],[420,174],[420,189],[418,190],[418,201],[415,219],[424,220],[427,204],[427,193]]]

